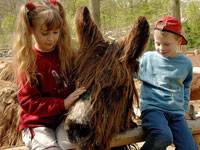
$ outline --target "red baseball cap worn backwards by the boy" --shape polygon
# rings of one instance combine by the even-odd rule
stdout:
[[[160,22],[163,22],[163,24],[158,24]],[[156,22],[154,30],[161,30],[174,33],[182,37],[181,45],[186,45],[187,41],[184,38],[184,36],[181,35],[181,28],[181,22],[177,18],[171,16],[164,16]]]

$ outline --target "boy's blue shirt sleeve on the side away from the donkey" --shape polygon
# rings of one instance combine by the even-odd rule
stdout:
[[[185,100],[184,110],[185,110],[185,112],[188,112],[188,103],[190,101],[190,85],[192,83],[192,79],[193,79],[193,68],[192,68],[192,65],[191,65],[190,71],[187,75],[187,78],[183,82],[183,84],[184,84],[184,100]]]

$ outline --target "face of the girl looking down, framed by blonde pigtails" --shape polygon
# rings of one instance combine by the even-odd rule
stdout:
[[[48,52],[51,51],[58,42],[60,29],[47,30],[46,25],[37,21],[34,28],[31,27],[32,35],[36,42],[36,47],[40,51]]]

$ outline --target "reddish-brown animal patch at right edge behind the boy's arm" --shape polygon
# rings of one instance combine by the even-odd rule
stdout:
[[[193,74],[190,100],[200,100],[200,74],[199,73]]]

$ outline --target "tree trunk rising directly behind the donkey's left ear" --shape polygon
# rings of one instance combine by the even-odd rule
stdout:
[[[92,18],[98,27],[100,27],[100,6],[99,0],[89,0],[89,10]]]

